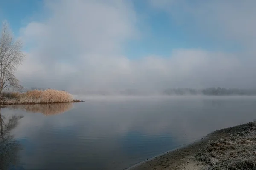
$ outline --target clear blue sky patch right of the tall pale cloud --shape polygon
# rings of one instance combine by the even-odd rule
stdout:
[[[172,50],[177,48],[204,48],[209,51],[237,51],[241,48],[236,42],[200,34],[200,31],[192,30],[193,23],[186,23],[186,20],[178,23],[166,11],[154,10],[146,1],[133,2],[136,12],[144,17],[143,21],[139,21],[143,22],[144,27],[141,28],[142,38],[126,46],[128,56],[153,54],[169,57]]]

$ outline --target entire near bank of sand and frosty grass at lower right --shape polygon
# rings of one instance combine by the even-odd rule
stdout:
[[[227,154],[225,154],[227,153]],[[131,170],[255,170],[256,122],[214,131]]]

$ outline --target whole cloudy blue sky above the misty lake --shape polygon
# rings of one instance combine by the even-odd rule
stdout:
[[[0,0],[24,87],[256,88],[255,0]]]

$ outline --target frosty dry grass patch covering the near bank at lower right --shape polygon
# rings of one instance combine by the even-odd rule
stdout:
[[[235,136],[209,141],[195,159],[208,164],[207,170],[256,170],[256,121]]]

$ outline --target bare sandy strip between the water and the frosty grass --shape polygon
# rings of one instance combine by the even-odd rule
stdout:
[[[218,141],[220,139],[228,139],[232,135],[240,134],[244,130],[248,130],[250,123],[236,125],[220,130],[216,130],[207,134],[196,142],[175,148],[160,155],[154,156],[140,163],[137,163],[125,170],[201,170],[205,169],[207,164],[202,161],[195,160],[198,151],[209,145],[209,141]]]

